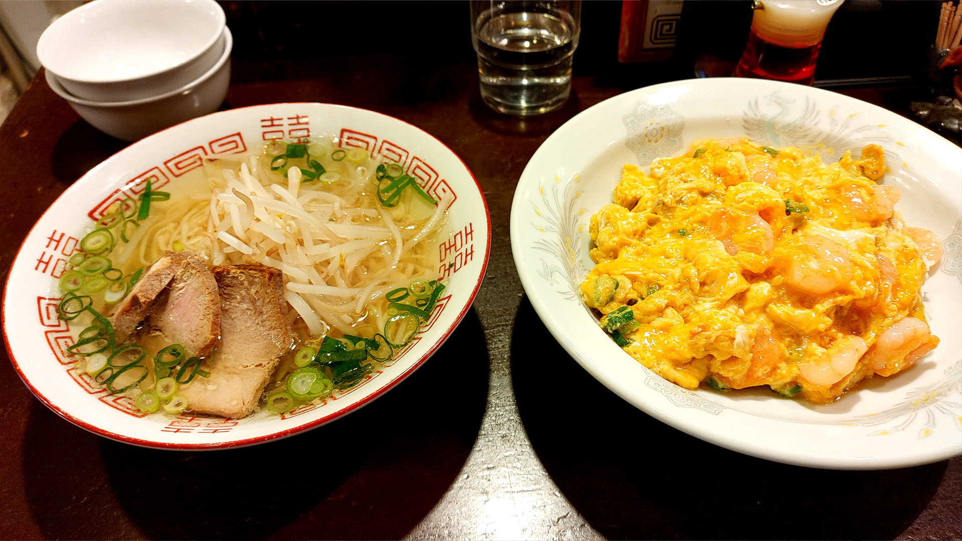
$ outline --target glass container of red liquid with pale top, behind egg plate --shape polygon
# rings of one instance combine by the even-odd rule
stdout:
[[[738,77],[811,85],[825,28],[844,0],[755,0]]]

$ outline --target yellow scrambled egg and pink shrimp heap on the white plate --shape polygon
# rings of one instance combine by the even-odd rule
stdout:
[[[878,184],[881,147],[823,165],[794,147],[696,141],[625,165],[591,219],[581,296],[621,348],[687,389],[768,385],[823,404],[939,339],[921,288],[941,245]]]

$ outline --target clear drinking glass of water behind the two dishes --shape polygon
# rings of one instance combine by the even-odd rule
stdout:
[[[519,116],[561,107],[571,90],[581,1],[471,0],[470,7],[485,103]]]

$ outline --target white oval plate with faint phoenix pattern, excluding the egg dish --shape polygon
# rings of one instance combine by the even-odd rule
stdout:
[[[623,164],[647,169],[704,137],[747,136],[837,162],[885,148],[896,209],[944,241],[924,286],[941,345],[902,374],[823,406],[766,390],[688,391],[647,370],[598,327],[576,287],[594,264],[588,222]],[[565,123],[525,167],[511,214],[515,264],[535,310],[589,374],[649,415],[703,440],[790,464],[882,469],[962,453],[962,150],[918,124],[834,92],[754,79],[695,79],[633,90]]]

